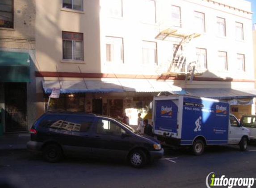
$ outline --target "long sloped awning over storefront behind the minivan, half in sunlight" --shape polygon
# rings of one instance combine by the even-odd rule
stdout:
[[[42,81],[45,93],[60,88],[60,93],[85,92],[182,92],[182,88],[171,83],[147,79],[108,79],[104,81]]]

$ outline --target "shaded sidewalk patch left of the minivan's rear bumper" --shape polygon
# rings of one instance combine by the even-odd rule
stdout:
[[[26,149],[29,133],[5,134],[0,136],[0,150]]]

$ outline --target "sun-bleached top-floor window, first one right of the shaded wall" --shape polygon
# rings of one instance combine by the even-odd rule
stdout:
[[[117,18],[123,16],[122,0],[104,0],[103,2],[105,3],[104,6],[107,16]]]

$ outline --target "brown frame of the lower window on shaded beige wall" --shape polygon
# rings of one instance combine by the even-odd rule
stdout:
[[[76,33],[82,35],[82,40],[75,40],[75,39],[66,39],[63,38],[63,33]],[[64,40],[65,41],[72,41],[72,59],[64,59]],[[76,41],[82,42],[82,59],[76,59]],[[77,32],[69,32],[69,31],[62,31],[62,59],[63,61],[84,61],[84,33],[77,33]]]

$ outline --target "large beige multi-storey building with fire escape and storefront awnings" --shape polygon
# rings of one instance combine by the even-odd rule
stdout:
[[[37,0],[37,116],[53,88],[49,110],[126,111],[132,125],[156,95],[255,114],[251,17],[246,0]]]

